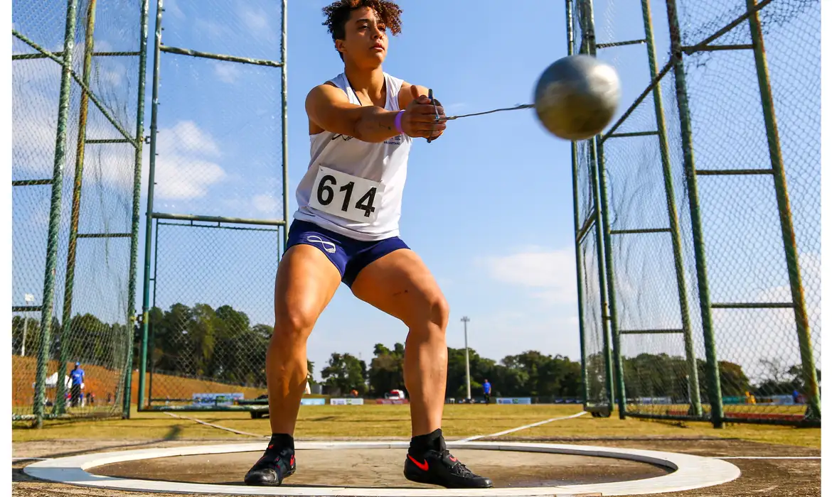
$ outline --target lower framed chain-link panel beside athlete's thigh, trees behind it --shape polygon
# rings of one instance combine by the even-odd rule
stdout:
[[[265,394],[279,236],[268,227],[156,224],[151,406],[187,408],[200,394]]]

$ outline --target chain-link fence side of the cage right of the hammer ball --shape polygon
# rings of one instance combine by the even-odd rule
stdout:
[[[609,324],[617,405],[820,423],[820,2],[567,8],[626,96],[598,160],[576,155],[597,170],[607,268],[582,307]]]

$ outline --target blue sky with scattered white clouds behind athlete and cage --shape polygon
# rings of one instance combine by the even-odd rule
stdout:
[[[325,0],[290,1],[290,212],[295,209],[295,187],[309,161],[304,110],[306,93],[343,70],[329,33],[321,26],[323,16],[320,9],[328,3]],[[403,33],[399,37],[391,37],[384,69],[406,81],[433,88],[449,115],[531,101],[537,76],[550,63],[566,55],[562,2],[525,0],[513,3],[510,9],[504,2],[496,0],[476,2],[476,8],[472,8],[474,2],[402,0],[399,3],[404,10]],[[666,16],[658,3],[654,2],[653,19],[658,63],[663,66],[668,49],[663,22]],[[426,8],[428,4],[429,8]],[[163,42],[166,45],[245,57],[274,60],[280,57],[278,2],[198,2],[200,7],[196,7],[197,2],[166,0],[165,5]],[[598,42],[643,37],[639,6],[639,2],[597,2]],[[683,26],[683,31],[691,30],[704,21],[693,17],[698,14],[696,11],[688,12],[684,2],[681,10],[689,21]],[[120,49],[117,40],[120,33],[118,29],[112,29],[117,24],[116,12],[111,11],[109,15],[111,24],[106,22],[106,11],[102,13],[102,26],[110,26],[113,36],[108,39],[107,32],[102,32],[101,43],[117,50]],[[154,19],[155,7],[151,6],[151,46]],[[813,19],[809,17],[810,22],[815,22]],[[696,42],[698,39],[686,41]],[[778,42],[780,47],[794,47],[782,39],[770,42],[767,48],[774,61],[770,62],[772,71],[777,70],[777,62],[785,64],[784,61],[790,57],[789,51],[777,52]],[[602,52],[601,57],[612,62],[619,71],[624,102],[620,111],[624,111],[628,102],[640,94],[649,82],[645,50],[641,46],[622,47]],[[755,83],[750,53],[732,57],[711,61],[708,71],[691,76],[691,94],[696,96],[696,91],[699,91],[699,95],[707,96],[700,100],[707,102],[703,106],[697,107],[695,102],[692,107],[698,140],[697,156],[703,169],[766,165],[767,155],[762,148],[765,141],[760,141],[765,135],[762,135],[759,111],[747,111],[750,105],[747,95],[743,100],[740,98],[743,95],[726,91],[725,98],[715,97],[725,81],[729,81],[726,79],[729,76],[750,77],[748,81],[741,80],[744,85]],[[282,217],[280,70],[171,54],[163,55],[161,61],[155,210],[245,218]],[[118,62],[112,64],[108,66],[109,70],[120,74]],[[150,67],[151,60],[148,61]],[[820,71],[817,70],[810,71],[810,81],[814,81],[811,78],[815,73],[820,81]],[[135,80],[130,77],[124,79],[128,85]],[[783,81],[788,80],[784,78]],[[146,133],[149,133],[150,73],[147,84],[145,126]],[[785,88],[782,91],[787,96],[793,95],[796,90],[788,86],[788,82],[786,86],[776,86],[775,90],[779,88]],[[671,81],[666,80],[663,94],[666,95],[668,114],[675,111],[675,101],[670,100],[671,93]],[[810,91],[809,111],[812,99],[815,99],[815,93]],[[819,99],[820,91],[817,92]],[[649,103],[650,99],[646,101],[646,104]],[[655,124],[651,116],[651,106],[641,106],[622,130],[652,129]],[[736,116],[745,116],[745,121],[737,122]],[[803,135],[790,134],[790,129],[804,130],[796,125],[789,127],[788,123],[797,119],[795,116],[797,112],[783,111],[779,114],[780,121],[787,123],[781,130],[785,153],[794,153],[802,160],[795,164],[811,170],[816,165],[813,156],[810,155],[807,160],[805,150],[800,150],[802,155],[789,151],[792,149],[788,144],[807,140]],[[809,116],[810,119],[820,119],[819,114]],[[723,124],[713,125],[714,122]],[[670,122],[671,133],[677,131],[673,126]],[[607,149],[611,157],[608,162],[611,181],[615,180],[611,186],[612,193],[617,195],[616,199],[636,201],[636,204],[628,205],[629,217],[623,210],[617,212],[619,215],[614,216],[615,227],[664,227],[666,214],[661,183],[654,181],[655,184],[641,197],[628,194],[632,190],[619,186],[631,185],[635,181],[638,191],[639,178],[657,180],[661,177],[656,172],[659,163],[655,143],[645,145],[636,141],[640,139],[627,140],[631,141],[622,141],[621,145],[610,144]],[[808,140],[806,150],[812,150],[812,143],[817,144],[820,135],[811,135]],[[677,141],[671,140],[671,145]],[[533,111],[463,119],[449,123],[446,135],[430,145],[425,140],[415,140],[404,194],[402,237],[433,270],[448,298],[451,307],[448,327],[450,347],[463,347],[463,326],[459,320],[467,315],[471,318],[468,344],[485,357],[498,360],[509,354],[535,349],[578,358],[569,150],[568,142],[542,130]],[[711,150],[730,150],[735,155],[725,151],[722,155],[709,154]],[[644,159],[640,163],[641,169],[615,169],[617,163],[613,160],[616,158],[638,160],[640,157]],[[145,179],[147,158],[146,147]],[[630,183],[626,183],[627,178]],[[110,178],[116,183],[128,179]],[[685,200],[681,195],[681,175],[677,175],[675,180],[677,204],[685,227],[688,224],[686,210],[683,210]],[[703,184],[704,180],[701,180],[703,200],[712,199],[716,205],[721,205],[726,194],[731,195],[732,190],[726,186],[715,189]],[[706,220],[711,223],[709,226],[713,227],[708,244],[714,258],[711,276],[716,275],[714,281],[727,282],[722,286],[719,283],[712,286],[715,301],[776,301],[783,298],[787,280],[785,265],[777,259],[777,230],[768,228],[760,234],[751,229],[749,235],[733,238],[730,235],[732,226],[758,228],[776,222],[776,218],[770,215],[770,209],[758,209],[763,205],[763,199],[769,203],[773,199],[767,188],[765,183],[746,186],[745,196],[740,197],[749,204],[745,208],[730,207],[733,213],[730,216],[719,215],[719,209],[725,207],[717,209],[716,215],[714,210],[705,213]],[[800,195],[792,199],[795,212],[811,209],[820,194],[820,186],[803,185],[799,188],[803,188],[799,190]],[[145,196],[146,180],[142,187],[142,248]],[[805,204],[801,204],[804,201]],[[761,210],[765,213],[759,214]],[[106,209],[102,208],[102,211]],[[123,223],[124,219],[120,222]],[[814,230],[814,225],[810,224],[806,232],[814,233]],[[157,288],[157,304],[160,307],[167,308],[176,302],[204,302],[215,306],[230,303],[247,312],[255,322],[271,323],[276,263],[274,234],[162,226],[161,237]],[[766,240],[765,249],[760,248],[759,242],[755,241],[757,239]],[[673,295],[675,289],[668,285],[673,283],[673,277],[670,244],[665,243],[667,241],[626,242],[631,245],[622,245],[622,250],[628,250],[622,257],[626,256],[631,264],[624,268],[619,263],[617,269],[622,271],[622,276],[617,283],[618,291],[622,301],[630,298],[628,302],[631,302],[632,312],[625,319],[636,316],[628,324],[678,326],[678,310],[674,307],[677,304]],[[820,249],[820,239],[810,237],[803,245],[809,248],[805,256],[809,262],[805,263],[805,267],[815,271],[810,278],[817,278],[820,284],[820,253],[815,253]],[[735,250],[737,247],[741,249]],[[728,254],[731,254],[730,257]],[[751,257],[754,254],[760,257]],[[692,253],[688,251],[686,255],[690,256],[686,259],[686,268],[691,282]],[[768,263],[769,260],[776,262]],[[140,252],[140,275],[141,263]],[[760,267],[768,270],[761,271]],[[656,280],[659,273],[662,276]],[[39,277],[42,270],[32,274]],[[742,277],[738,278],[738,275]],[[112,285],[114,288],[118,286],[116,283]],[[17,289],[15,292],[17,294]],[[693,293],[692,285],[689,293]],[[141,283],[138,296],[141,299]],[[84,301],[83,298],[78,300]],[[90,298],[87,302],[92,300]],[[119,299],[122,303],[123,300]],[[820,341],[820,290],[816,302],[811,304],[813,309],[818,309],[815,335]],[[83,310],[83,303],[77,305]],[[136,307],[141,308],[141,300]],[[691,314],[698,322],[693,300]],[[748,327],[753,326],[750,323],[754,317],[735,314],[722,319],[723,322],[731,322],[738,318],[744,322],[735,328],[740,331],[730,332],[726,328],[726,332],[718,333],[722,337],[721,347],[731,357],[738,360],[742,357],[744,361],[753,362],[756,354],[746,353],[748,351],[741,336],[749,332]],[[769,324],[764,327],[765,335],[761,337],[768,337],[765,339],[772,344],[788,343],[791,349],[795,349],[794,341],[789,338],[786,342],[785,338],[791,337],[785,335],[793,326],[789,323],[790,318],[777,314],[765,319]],[[374,343],[390,345],[402,342],[406,332],[403,324],[359,302],[348,288],[342,286],[310,338],[310,359],[318,365],[318,369],[331,352],[350,352],[369,360]],[[683,352],[680,344],[671,342],[671,339],[654,337],[649,339],[651,342],[646,340],[627,350]],[[820,342],[817,349],[820,351]],[[791,360],[795,357],[795,350],[785,352],[785,356]]]

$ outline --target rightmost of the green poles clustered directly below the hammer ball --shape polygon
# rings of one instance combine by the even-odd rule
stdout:
[[[622,364],[621,335],[618,332],[618,312],[616,307],[616,278],[612,262],[612,239],[610,237],[609,207],[607,205],[607,167],[604,164],[604,148],[597,140],[598,153],[598,185],[601,189],[599,204],[601,204],[602,232],[604,234],[604,257],[607,265],[607,300],[609,301],[610,332],[612,333],[612,365],[615,367],[616,398],[618,400],[618,417],[626,417],[626,393],[624,390],[624,366]]]

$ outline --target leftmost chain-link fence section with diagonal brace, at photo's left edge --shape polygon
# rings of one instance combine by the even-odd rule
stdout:
[[[13,420],[123,412],[144,27],[141,0],[12,2]]]

